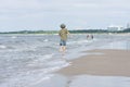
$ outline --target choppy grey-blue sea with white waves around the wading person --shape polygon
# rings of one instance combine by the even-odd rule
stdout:
[[[87,50],[130,50],[130,35],[94,34],[92,39],[74,34],[66,48],[63,55],[58,35],[0,35],[0,87],[66,87],[61,79],[67,79],[54,72],[70,65],[69,60],[89,54],[83,52]]]

